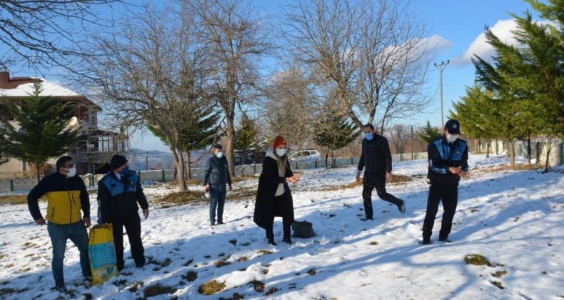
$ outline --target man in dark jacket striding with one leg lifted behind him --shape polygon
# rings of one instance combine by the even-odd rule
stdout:
[[[361,171],[365,169],[362,198],[366,220],[373,219],[372,190],[375,188],[380,199],[396,204],[403,214],[406,211],[406,202],[386,192],[386,182],[392,180],[392,155],[388,140],[376,134],[372,124],[364,125],[363,134],[361,160],[358,161],[356,180],[361,179]]]

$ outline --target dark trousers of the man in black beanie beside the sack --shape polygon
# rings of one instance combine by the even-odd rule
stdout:
[[[116,246],[116,263],[118,270],[124,269],[124,226],[126,228],[129,245],[131,246],[131,256],[136,266],[145,264],[145,249],[141,241],[141,218],[137,211],[131,211],[127,216],[114,220],[114,245]]]

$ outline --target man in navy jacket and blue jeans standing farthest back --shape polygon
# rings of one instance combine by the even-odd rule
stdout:
[[[213,156],[206,161],[206,171],[203,173],[203,191],[210,192],[211,226],[216,224],[216,207],[217,224],[225,224],[223,223],[223,206],[227,194],[226,185],[229,185],[229,191],[232,189],[227,159],[223,156],[223,146],[215,144],[212,149]]]

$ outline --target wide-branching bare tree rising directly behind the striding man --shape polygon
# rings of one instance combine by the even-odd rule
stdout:
[[[343,114],[362,128],[378,121],[380,133],[392,119],[425,108],[421,94],[428,67],[425,27],[398,0],[294,1],[285,6],[290,51],[323,72],[333,84]]]

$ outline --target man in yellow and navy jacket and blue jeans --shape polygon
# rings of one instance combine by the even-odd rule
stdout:
[[[90,227],[90,199],[84,181],[76,176],[76,168],[70,156],[56,161],[57,171],[45,176],[27,195],[29,212],[36,224],[44,225],[53,245],[51,269],[57,289],[64,289],[63,261],[66,241],[70,239],[80,251],[82,276],[91,280],[88,256],[88,233]],[[47,214],[39,210],[39,198],[47,198]],[[81,216],[81,210],[83,216]]]

